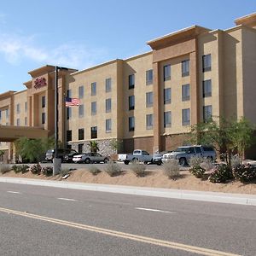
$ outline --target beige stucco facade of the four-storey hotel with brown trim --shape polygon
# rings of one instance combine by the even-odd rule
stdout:
[[[88,143],[96,140],[100,151],[111,154],[111,140],[119,139],[123,152],[143,148],[152,153],[184,143],[190,125],[203,121],[206,109],[213,118],[246,117],[256,124],[256,14],[235,22],[226,30],[190,26],[149,41],[152,51],[148,53],[82,71],[60,70],[61,141],[87,151]],[[40,67],[29,74],[32,79],[25,83],[26,90],[0,95],[0,124],[34,127],[47,131],[45,136],[53,135],[55,67]],[[83,95],[79,95],[81,87]],[[79,98],[79,107],[67,110],[67,93]]]

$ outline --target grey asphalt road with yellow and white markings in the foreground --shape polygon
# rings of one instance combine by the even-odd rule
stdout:
[[[254,256],[255,213],[240,205],[1,183],[0,255]]]

